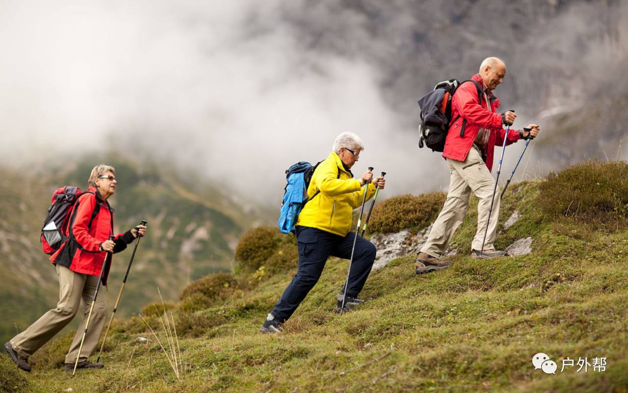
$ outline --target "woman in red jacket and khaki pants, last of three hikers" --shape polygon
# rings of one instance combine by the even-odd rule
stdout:
[[[109,235],[114,230],[114,210],[107,199],[116,192],[116,170],[112,166],[97,165],[88,180],[89,189],[78,197],[70,216],[68,239],[50,257],[57,269],[59,279],[59,302],[57,307],[45,313],[33,325],[14,336],[4,345],[13,361],[20,369],[30,371],[28,357],[62,330],[76,315],[81,300],[85,313],[70,350],[65,356],[65,369],[72,371],[78,356],[87,313],[94,297],[100,270],[107,252],[120,252],[127,244],[146,233],[146,227],[139,225],[134,229],[118,234],[113,241]],[[109,265],[102,277],[102,284],[107,284]],[[98,294],[92,311],[89,329],[85,335],[83,350],[78,359],[78,369],[101,369],[102,363],[92,363],[87,358],[91,355],[105,324],[107,304],[102,292]]]

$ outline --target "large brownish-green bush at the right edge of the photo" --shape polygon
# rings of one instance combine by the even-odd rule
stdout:
[[[628,163],[587,161],[550,173],[536,203],[549,217],[573,217],[595,228],[628,222]]]

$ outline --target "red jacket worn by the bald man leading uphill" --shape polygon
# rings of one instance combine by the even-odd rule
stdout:
[[[480,88],[484,90],[484,83],[482,83],[479,73],[476,73],[472,79],[478,82]],[[477,132],[480,128],[485,128],[490,130],[490,136],[482,156],[489,171],[492,170],[495,145],[502,146],[504,144],[506,129],[502,128],[502,116],[497,113],[499,99],[491,92],[489,93],[489,100],[492,112],[486,109],[484,94],[481,95],[478,101],[477,89],[474,83],[462,83],[458,87],[452,98],[452,122],[449,124],[447,139],[445,139],[443,157],[455,159],[456,161],[467,159],[467,154],[471,150]],[[460,135],[461,131],[464,131],[462,136]],[[514,143],[519,139],[519,130],[511,127],[506,144]]]

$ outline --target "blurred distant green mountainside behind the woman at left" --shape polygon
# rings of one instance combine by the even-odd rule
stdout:
[[[230,271],[244,229],[266,213],[232,201],[225,190],[185,176],[167,166],[107,156],[79,161],[72,168],[48,169],[36,176],[0,168],[0,341],[23,330],[58,300],[54,267],[41,252],[39,232],[52,192],[63,185],[83,190],[95,163],[116,168],[119,181],[110,202],[115,231],[148,221],[119,313],[131,316],[153,300],[156,288],[166,299],[211,272]],[[114,258],[106,291],[114,304],[133,245]],[[77,321],[74,322],[75,324]]]

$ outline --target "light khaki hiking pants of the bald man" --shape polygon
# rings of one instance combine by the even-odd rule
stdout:
[[[447,245],[452,240],[453,234],[462,223],[467,213],[469,197],[473,192],[480,198],[477,205],[477,232],[471,244],[472,249],[482,249],[484,230],[486,229],[486,218],[489,217],[490,197],[493,195],[495,179],[490,175],[489,168],[482,160],[480,149],[472,146],[465,161],[456,161],[447,158],[447,165],[451,174],[449,183],[449,193],[443,206],[443,210],[438,214],[438,218],[428,236],[428,240],[421,248],[430,256],[440,258],[447,251]],[[490,215],[489,231],[486,234],[485,250],[495,248],[495,232],[497,231],[497,218],[499,217],[499,187],[495,191],[495,202]]]

